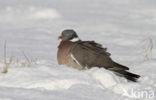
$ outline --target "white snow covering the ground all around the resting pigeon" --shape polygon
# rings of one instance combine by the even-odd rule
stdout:
[[[7,59],[14,58],[8,73],[0,73],[0,100],[155,100],[155,9],[155,0],[1,0],[0,70],[5,40]],[[142,76],[139,82],[104,69],[59,66],[57,36],[66,28],[107,47],[112,59]],[[144,61],[147,38],[153,51]],[[36,64],[20,65],[21,50]]]

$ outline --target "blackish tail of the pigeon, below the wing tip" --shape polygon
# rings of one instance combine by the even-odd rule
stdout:
[[[128,71],[125,70],[112,70],[116,75],[121,76],[121,77],[125,77],[126,79],[133,81],[133,82],[137,82],[137,80],[139,79],[140,75],[134,74],[134,73],[130,73]]]

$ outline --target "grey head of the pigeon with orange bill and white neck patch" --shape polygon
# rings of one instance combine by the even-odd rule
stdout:
[[[72,29],[64,30],[61,34],[61,36],[58,37],[58,40],[62,41],[71,41],[71,42],[77,42],[80,41],[78,35],[76,32]]]

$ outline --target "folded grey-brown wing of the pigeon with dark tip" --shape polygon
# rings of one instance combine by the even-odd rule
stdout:
[[[81,66],[104,67],[109,70],[129,70],[128,67],[115,63],[110,58],[110,53],[101,44],[94,41],[81,41],[73,46],[71,54]]]

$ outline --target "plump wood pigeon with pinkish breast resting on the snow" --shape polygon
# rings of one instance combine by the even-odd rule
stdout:
[[[58,40],[61,40],[57,52],[59,65],[78,70],[93,67],[104,68],[133,82],[137,82],[140,77],[140,75],[129,72],[127,66],[113,61],[107,48],[103,48],[101,44],[95,41],[82,41],[73,29],[63,30]]]

